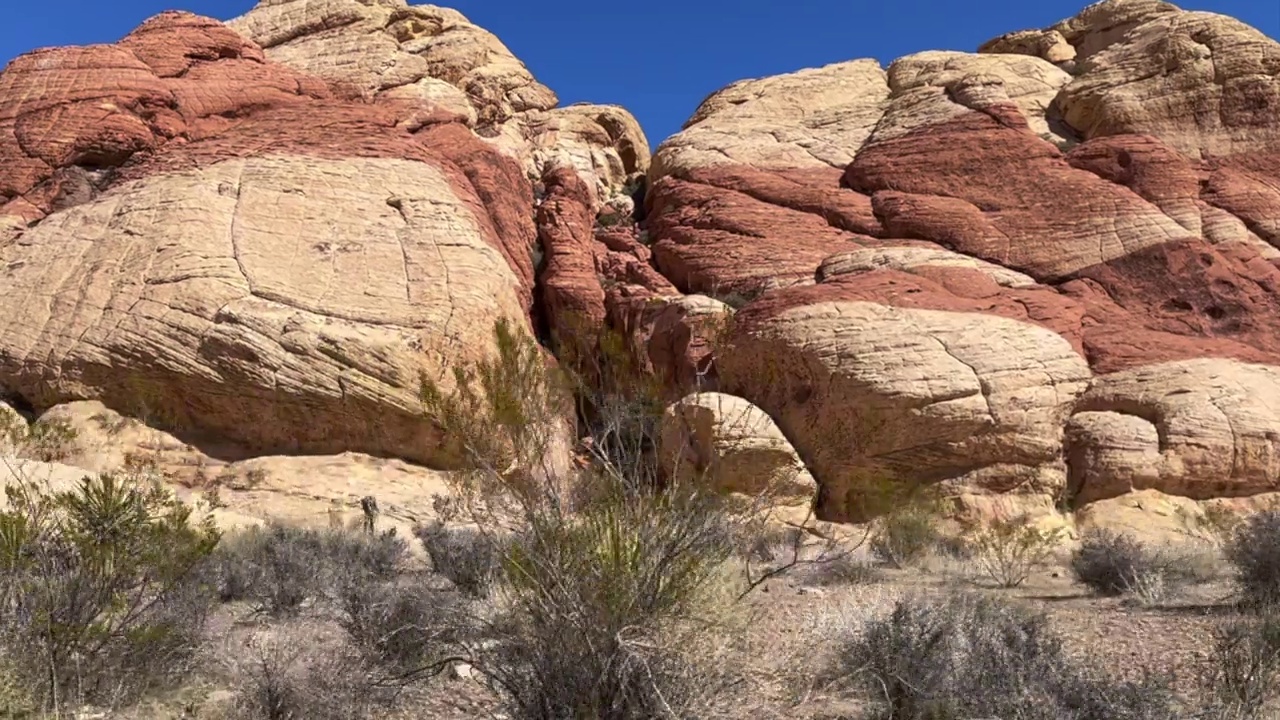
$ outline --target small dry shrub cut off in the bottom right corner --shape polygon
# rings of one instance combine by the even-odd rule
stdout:
[[[1203,678],[1222,717],[1261,717],[1280,697],[1280,616],[1230,620],[1215,628]]]

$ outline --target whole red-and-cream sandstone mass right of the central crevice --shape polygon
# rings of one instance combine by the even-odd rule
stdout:
[[[1277,489],[1280,44],[1107,0],[978,54],[737,82],[655,152],[719,388],[856,519],[942,483],[1076,505]]]

